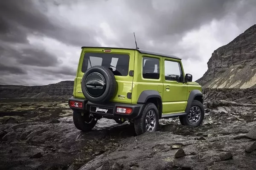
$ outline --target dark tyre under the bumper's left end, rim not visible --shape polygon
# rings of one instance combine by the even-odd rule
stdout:
[[[93,129],[97,119],[88,113],[73,111],[73,121],[77,129],[88,132]]]

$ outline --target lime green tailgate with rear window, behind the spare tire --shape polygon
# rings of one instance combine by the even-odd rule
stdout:
[[[133,77],[129,76],[129,71],[134,70],[134,52],[122,48],[83,48],[76,81],[76,97],[84,98],[81,92],[84,72],[94,65],[102,65],[110,68],[116,78],[116,93],[111,101],[131,103],[127,93],[132,92]]]

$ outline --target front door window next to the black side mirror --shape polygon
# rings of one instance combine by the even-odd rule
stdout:
[[[183,82],[182,71],[179,62],[165,60],[164,68],[166,80]]]

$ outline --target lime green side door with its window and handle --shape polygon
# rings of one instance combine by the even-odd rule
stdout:
[[[180,60],[165,58],[163,68],[163,114],[184,112],[187,85]]]

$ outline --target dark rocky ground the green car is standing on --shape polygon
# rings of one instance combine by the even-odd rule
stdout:
[[[211,97],[218,93],[204,92],[200,127],[161,119],[157,132],[140,136],[109,119],[83,133],[66,101],[1,100],[0,169],[255,170],[256,105],[247,95],[233,102],[232,91],[232,102]]]

